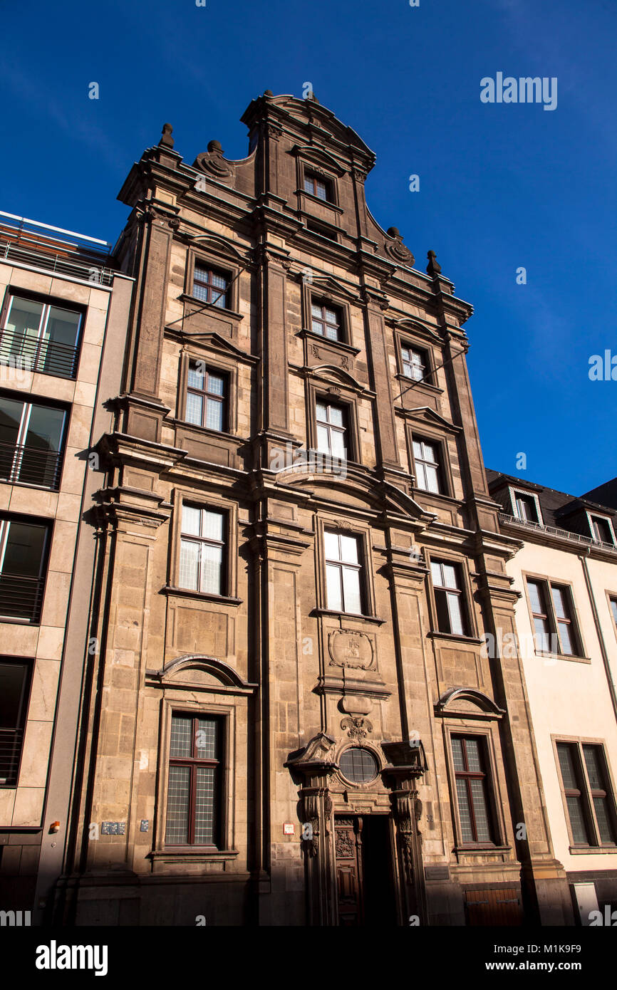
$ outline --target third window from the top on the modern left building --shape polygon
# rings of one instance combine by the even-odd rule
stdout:
[[[50,527],[0,519],[0,618],[38,623]]]

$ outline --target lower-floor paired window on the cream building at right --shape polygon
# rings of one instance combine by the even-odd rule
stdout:
[[[557,743],[557,752],[572,844],[614,845],[615,799],[604,747],[596,743]]]

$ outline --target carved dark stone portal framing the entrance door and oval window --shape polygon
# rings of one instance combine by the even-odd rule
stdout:
[[[380,763],[379,773],[373,781],[352,787],[341,775],[338,763],[341,751],[349,745],[348,738],[337,743],[325,733],[319,733],[302,749],[291,753],[285,763],[299,784],[298,817],[305,858],[307,924],[340,924],[337,829],[333,813],[353,817],[373,811],[387,811],[395,826],[393,874],[399,922],[407,924],[410,915],[418,915],[420,923],[424,924],[426,894],[418,825],[422,802],[416,789],[416,781],[426,770],[424,747],[420,741],[381,743],[381,755],[377,745],[372,743],[370,750]],[[354,854],[350,868],[353,858]]]

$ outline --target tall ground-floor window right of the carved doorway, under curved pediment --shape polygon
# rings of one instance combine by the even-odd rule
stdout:
[[[473,736],[453,736],[452,755],[463,844],[493,842],[485,741]]]

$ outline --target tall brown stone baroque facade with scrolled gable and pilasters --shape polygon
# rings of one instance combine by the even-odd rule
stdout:
[[[53,917],[571,922],[522,662],[481,648],[514,632],[518,544],[471,308],[372,218],[333,113],[266,92],[243,122],[248,157],[193,165],[165,125],[120,193],[136,291]]]

